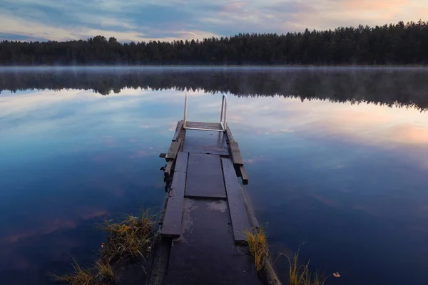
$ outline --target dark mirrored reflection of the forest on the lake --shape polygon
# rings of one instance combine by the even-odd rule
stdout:
[[[102,95],[120,93],[123,88],[204,90],[238,97],[280,95],[300,100],[428,108],[428,72],[416,68],[407,71],[395,68],[346,71],[345,68],[312,71],[307,68],[41,69],[0,73],[0,93],[64,88],[93,90]]]

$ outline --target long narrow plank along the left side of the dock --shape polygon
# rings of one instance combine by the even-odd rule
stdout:
[[[168,200],[161,234],[165,237],[179,237],[181,232],[181,217],[183,215],[183,200],[185,192],[186,168],[188,153],[178,152],[175,162],[175,171],[171,189],[168,192]],[[179,167],[177,167],[179,165]]]

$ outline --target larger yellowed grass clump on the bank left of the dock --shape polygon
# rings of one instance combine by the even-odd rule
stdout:
[[[141,217],[128,216],[122,222],[104,221],[106,243],[101,249],[101,260],[112,264],[118,261],[143,258],[151,254],[154,240],[153,219],[148,211]]]

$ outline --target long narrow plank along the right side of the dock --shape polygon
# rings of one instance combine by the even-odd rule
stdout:
[[[223,164],[226,193],[228,195],[230,219],[232,220],[233,237],[235,238],[235,242],[245,242],[245,230],[250,231],[251,226],[245,207],[243,192],[240,189],[232,161],[227,157],[222,157],[221,161]]]

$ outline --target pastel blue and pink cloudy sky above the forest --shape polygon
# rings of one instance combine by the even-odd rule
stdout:
[[[419,19],[426,0],[0,0],[0,39],[173,41]]]

